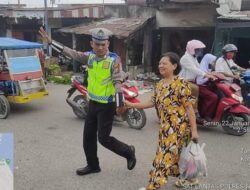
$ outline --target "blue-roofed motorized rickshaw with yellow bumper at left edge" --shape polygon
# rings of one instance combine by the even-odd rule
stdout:
[[[27,103],[48,95],[38,57],[42,46],[0,38],[0,119],[7,118],[9,102]]]

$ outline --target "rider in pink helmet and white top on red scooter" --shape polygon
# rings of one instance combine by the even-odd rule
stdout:
[[[203,56],[203,49],[205,47],[206,47],[205,44],[199,40],[188,41],[187,46],[186,46],[186,52],[181,57],[181,60],[180,60],[182,70],[179,76],[189,82],[192,95],[196,97],[194,111],[196,113],[196,117],[198,121],[200,120],[200,115],[198,113],[198,103],[197,103],[197,99],[199,96],[199,87],[196,85],[196,78],[198,76],[201,76],[202,78],[208,78],[212,80],[216,79],[216,77],[213,76],[212,73],[205,72],[200,69],[200,65],[199,65],[197,58]],[[200,120],[200,122],[203,122],[203,121]]]

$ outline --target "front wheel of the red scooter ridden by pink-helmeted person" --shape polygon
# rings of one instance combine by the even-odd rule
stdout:
[[[235,136],[242,136],[247,133],[248,124],[249,116],[244,113],[225,113],[221,121],[224,131]]]

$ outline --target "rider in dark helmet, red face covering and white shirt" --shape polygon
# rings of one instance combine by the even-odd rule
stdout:
[[[233,82],[233,79],[240,79],[240,76],[234,73],[232,67],[236,67],[241,72],[246,71],[245,68],[240,67],[233,60],[237,51],[238,48],[234,44],[226,44],[222,48],[222,56],[215,63],[215,71],[224,74],[230,82]]]

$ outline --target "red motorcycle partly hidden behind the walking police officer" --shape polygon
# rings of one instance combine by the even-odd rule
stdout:
[[[140,102],[137,99],[138,88],[132,84],[127,79],[122,84],[122,91],[124,98],[130,102]],[[88,91],[87,91],[87,71],[86,68],[83,68],[82,76],[73,76],[71,78],[71,88],[68,90],[68,96],[66,102],[73,109],[74,114],[79,119],[85,119],[88,112]],[[70,99],[71,96],[79,91],[81,94],[76,95],[73,99]],[[121,115],[115,115],[114,118],[116,121],[126,121],[131,128],[142,129],[146,124],[146,114],[143,109],[129,108],[125,113]]]

